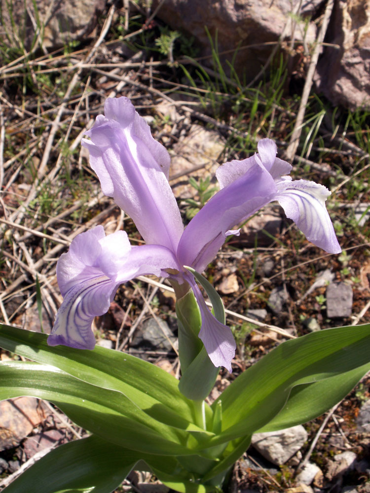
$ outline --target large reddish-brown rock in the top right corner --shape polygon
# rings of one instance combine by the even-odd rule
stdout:
[[[370,2],[338,0],[319,59],[315,82],[334,106],[370,106]]]

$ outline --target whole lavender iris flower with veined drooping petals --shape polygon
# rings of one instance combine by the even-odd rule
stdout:
[[[131,246],[127,234],[105,235],[103,226],[74,238],[57,264],[64,297],[48,344],[93,349],[91,323],[109,309],[121,283],[154,274],[189,285],[199,305],[199,337],[215,366],[231,371],[235,341],[231,330],[216,320],[184,266],[202,272],[232,229],[261,207],[277,200],[307,239],[329,253],[340,252],[325,208],[330,195],[324,186],[287,176],[292,166],[276,157],[276,144],[262,139],[258,154],[223,164],[216,176],[221,190],[184,230],[168,182],[170,156],[154,141],[145,120],[124,97],[107,99],[105,115],[96,118],[82,145],[103,192],[131,216],[147,245]],[[187,284],[184,284],[187,283]]]

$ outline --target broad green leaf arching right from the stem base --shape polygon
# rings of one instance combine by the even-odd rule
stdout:
[[[216,445],[254,433],[264,429],[267,423],[274,423],[274,420],[277,423],[277,415],[289,403],[295,386],[306,386],[292,394],[294,400],[291,404],[296,405],[298,410],[303,402],[298,398],[299,392],[312,395],[314,388],[308,384],[334,378],[332,383],[339,387],[338,390],[321,393],[321,397],[317,397],[320,404],[316,401],[312,406],[318,406],[320,411],[328,409],[336,399],[344,397],[350,384],[355,383],[359,375],[368,369],[370,324],[327,329],[287,341],[236,378],[213,403],[212,408],[215,408],[217,402],[222,400],[223,431],[211,439],[210,444]],[[316,387],[317,390],[324,388],[328,387],[324,384]],[[313,409],[309,402],[306,405],[309,408],[307,415],[311,416]],[[282,415],[284,426],[290,414],[288,408]],[[301,417],[305,419],[302,412]]]

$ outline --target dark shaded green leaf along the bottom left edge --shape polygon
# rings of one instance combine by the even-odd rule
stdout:
[[[134,468],[148,470],[179,492],[211,493],[213,487],[191,482],[174,457],[119,447],[92,435],[62,445],[39,459],[13,481],[6,493],[111,493]]]

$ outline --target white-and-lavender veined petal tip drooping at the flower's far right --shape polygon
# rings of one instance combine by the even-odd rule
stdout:
[[[331,192],[313,181],[291,181],[289,177],[281,178],[276,184],[278,193],[275,199],[307,240],[329,253],[339,253],[341,248],[325,207]]]

